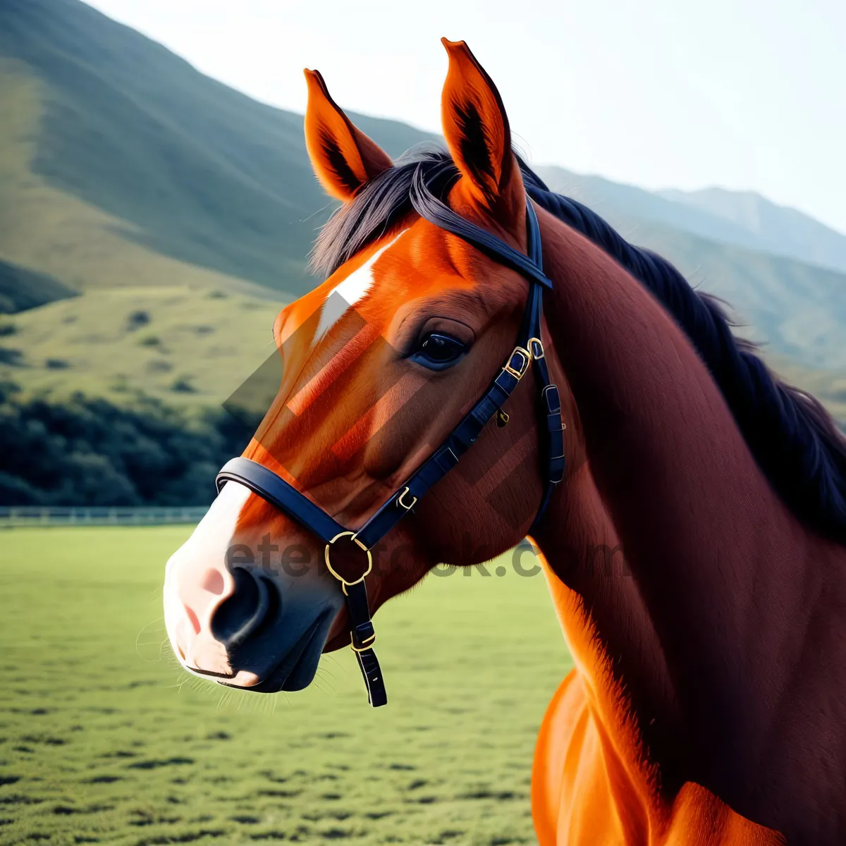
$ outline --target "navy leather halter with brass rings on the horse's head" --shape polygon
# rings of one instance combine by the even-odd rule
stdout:
[[[461,456],[475,443],[476,438],[492,417],[497,417],[499,426],[504,426],[508,422],[508,415],[503,411],[503,404],[514,392],[530,365],[534,369],[539,390],[538,415],[541,423],[539,430],[541,460],[544,468],[542,474],[544,490],[532,529],[546,511],[553,487],[563,479],[564,475],[561,401],[558,396],[558,387],[550,382],[547,360],[543,343],[541,343],[543,288],[551,288],[552,283],[543,272],[541,231],[535,209],[527,198],[526,230],[529,249],[528,255],[523,255],[503,240],[464,217],[460,217],[445,203],[437,200],[434,195],[421,190],[421,187],[419,183],[413,184],[410,194],[412,205],[420,217],[425,217],[436,226],[473,244],[495,261],[519,272],[529,282],[529,297],[526,301],[517,346],[508,356],[503,369],[494,377],[481,399],[470,409],[470,413],[449,433],[441,447],[388,497],[376,514],[373,514],[358,531],[351,531],[338,523],[281,476],[255,461],[245,458],[231,459],[217,474],[217,492],[220,492],[228,481],[237,481],[300,525],[305,526],[326,544],[324,558],[327,569],[341,582],[344,596],[346,596],[351,645],[365,680],[368,699],[374,707],[384,705],[387,702],[387,694],[382,671],[376,659],[376,653],[373,651],[376,632],[373,629],[365,588],[365,577],[371,572],[373,566],[371,549],[415,507],[420,497],[458,464]],[[343,578],[332,567],[330,551],[332,546],[342,538],[354,542],[366,557],[366,566],[356,580],[350,581]]]

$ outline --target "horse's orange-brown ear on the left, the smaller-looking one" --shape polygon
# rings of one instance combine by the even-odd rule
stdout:
[[[309,104],[305,109],[305,148],[327,193],[347,202],[368,179],[393,168],[391,157],[356,129],[329,96],[323,77],[305,69]]]

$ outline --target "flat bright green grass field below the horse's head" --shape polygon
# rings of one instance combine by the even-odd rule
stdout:
[[[542,575],[505,558],[388,603],[372,711],[349,650],[298,694],[182,673],[161,582],[189,531],[3,535],[0,843],[535,842],[531,756],[570,666]]]

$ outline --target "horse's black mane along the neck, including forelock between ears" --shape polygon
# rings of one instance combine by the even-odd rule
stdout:
[[[788,508],[812,529],[846,543],[846,439],[819,400],[780,381],[755,345],[734,335],[718,299],[691,288],[669,261],[629,244],[596,212],[553,193],[525,162],[519,164],[526,191],[538,206],[611,255],[673,316]],[[413,181],[446,200],[458,176],[447,151],[413,148],[334,212],[318,235],[311,266],[327,275],[334,272],[408,217]]]

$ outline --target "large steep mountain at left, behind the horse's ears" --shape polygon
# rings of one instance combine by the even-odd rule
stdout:
[[[331,206],[301,115],[209,79],[77,0],[0,3],[0,92],[12,118],[0,128],[0,214],[25,211],[4,221],[0,256],[77,288],[161,284],[185,265],[190,283],[310,286],[305,257]],[[355,119],[394,155],[431,137]]]

